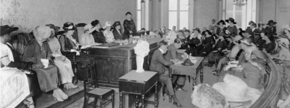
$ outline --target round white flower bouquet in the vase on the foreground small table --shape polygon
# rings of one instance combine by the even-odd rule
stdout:
[[[137,45],[134,47],[135,54],[145,57],[148,55],[150,49],[149,49],[149,43],[147,41],[139,40],[137,42]]]

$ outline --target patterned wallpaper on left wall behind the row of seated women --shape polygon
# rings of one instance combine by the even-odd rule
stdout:
[[[98,19],[123,23],[130,11],[133,19],[134,0],[1,0],[1,25],[15,25],[18,32],[30,32],[38,25],[48,23],[62,27],[63,23],[90,23]]]

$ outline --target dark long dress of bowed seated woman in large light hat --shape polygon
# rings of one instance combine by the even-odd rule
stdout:
[[[40,89],[44,92],[51,91],[58,87],[58,69],[57,66],[49,64],[47,68],[37,68],[35,66],[42,64],[42,58],[51,60],[51,50],[47,41],[44,41],[42,46],[39,45],[36,39],[32,39],[26,46],[22,61],[32,61],[32,70],[37,73]]]

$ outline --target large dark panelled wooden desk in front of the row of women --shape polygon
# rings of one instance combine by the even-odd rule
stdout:
[[[153,38],[147,40],[152,54],[158,47],[158,43],[162,40],[164,39]],[[119,88],[118,79],[132,69],[137,69],[136,54],[134,53],[135,46],[136,43],[131,43],[109,48],[88,48],[88,55],[92,56],[95,60],[95,70],[100,86]],[[147,57],[144,58],[143,67],[145,70],[149,70]]]

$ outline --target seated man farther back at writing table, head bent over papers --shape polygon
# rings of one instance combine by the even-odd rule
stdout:
[[[168,46],[168,52],[164,55],[165,59],[167,61],[170,61],[172,59],[176,59],[177,61],[181,61],[183,59],[181,56],[182,53],[176,52],[176,49],[180,48],[181,45],[182,45],[181,39],[176,38],[174,40],[174,43],[172,43]],[[177,80],[176,90],[186,92],[186,90],[184,90],[182,88],[182,86],[185,83],[185,75],[173,75],[173,83],[175,83],[177,77],[178,77],[178,80]]]

